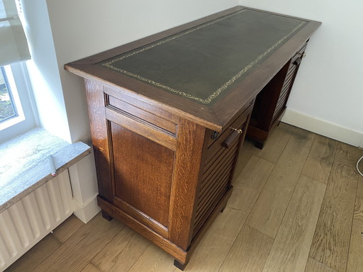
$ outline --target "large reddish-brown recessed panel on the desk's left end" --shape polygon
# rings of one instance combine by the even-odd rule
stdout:
[[[111,137],[115,203],[167,229],[174,151],[115,123]]]

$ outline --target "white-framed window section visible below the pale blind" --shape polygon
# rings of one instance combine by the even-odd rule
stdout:
[[[35,127],[25,64],[0,67],[0,142]]]

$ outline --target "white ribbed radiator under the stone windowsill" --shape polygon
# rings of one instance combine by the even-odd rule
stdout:
[[[0,271],[72,215],[68,171],[0,213]]]

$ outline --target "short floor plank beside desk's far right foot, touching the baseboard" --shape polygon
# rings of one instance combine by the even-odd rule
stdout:
[[[292,125],[287,125],[281,122],[276,128],[274,128],[274,130],[272,130],[264,148],[256,149],[255,155],[276,164],[294,130],[295,127]]]

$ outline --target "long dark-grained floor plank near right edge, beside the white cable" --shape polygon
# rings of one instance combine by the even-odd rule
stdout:
[[[310,256],[338,272],[345,271],[357,190],[359,149],[338,143]]]

